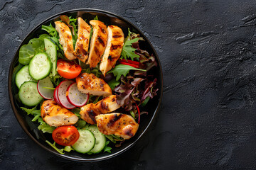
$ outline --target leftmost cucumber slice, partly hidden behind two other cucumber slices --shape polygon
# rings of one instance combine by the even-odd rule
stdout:
[[[21,84],[23,84],[25,81],[31,81],[33,78],[29,75],[28,72],[28,65],[23,66],[15,77],[15,82],[18,88],[20,88]]]

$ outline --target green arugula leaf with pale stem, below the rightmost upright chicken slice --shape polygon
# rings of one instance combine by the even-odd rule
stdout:
[[[146,72],[145,69],[137,69],[137,68],[134,68],[129,65],[119,64],[119,65],[115,66],[114,69],[111,69],[110,72],[107,72],[107,74],[113,73],[114,76],[116,77],[116,81],[118,81],[122,75],[124,75],[124,77],[126,77],[126,75],[128,74],[128,72],[130,70],[139,70],[139,71]]]

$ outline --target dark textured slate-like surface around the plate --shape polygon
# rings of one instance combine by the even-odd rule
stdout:
[[[134,23],[156,48],[164,98],[151,130],[124,154],[80,163],[23,132],[7,92],[21,40],[49,16],[99,8]],[[256,169],[256,1],[0,1],[0,169]]]

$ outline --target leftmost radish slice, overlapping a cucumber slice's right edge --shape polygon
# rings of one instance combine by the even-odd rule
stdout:
[[[37,89],[38,93],[46,99],[53,99],[54,89],[47,89],[47,88],[54,88],[53,83],[50,81],[49,77],[46,79],[41,79],[38,81]]]

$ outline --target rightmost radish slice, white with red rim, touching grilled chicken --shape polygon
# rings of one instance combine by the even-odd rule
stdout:
[[[82,94],[80,91],[78,91],[78,84],[73,83],[68,86],[68,101],[73,104],[73,106],[82,107],[84,106],[88,99],[88,94]]]

